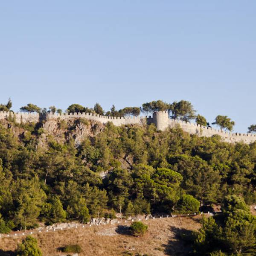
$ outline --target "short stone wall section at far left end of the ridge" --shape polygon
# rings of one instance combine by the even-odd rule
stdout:
[[[17,123],[20,122],[38,122],[39,121],[39,113],[27,113],[27,112],[5,112],[0,111],[0,120],[8,119],[9,117],[15,117],[15,121]]]

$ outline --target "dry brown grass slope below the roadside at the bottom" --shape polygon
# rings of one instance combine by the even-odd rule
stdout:
[[[200,216],[150,219],[145,221],[148,233],[143,237],[125,234],[125,227],[116,233],[114,226],[95,226],[70,230],[60,230],[34,235],[38,239],[44,256],[61,255],[58,248],[67,244],[79,244],[83,252],[79,256],[117,256],[125,251],[151,256],[186,255],[186,246],[177,236],[180,232],[189,232],[200,227]],[[117,228],[117,225],[116,225]],[[114,234],[114,236],[113,236]],[[12,255],[20,238],[2,238],[0,255]]]

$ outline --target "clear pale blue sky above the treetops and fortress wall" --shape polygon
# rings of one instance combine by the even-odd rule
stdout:
[[[0,1],[0,103],[185,99],[256,123],[256,1]]]

